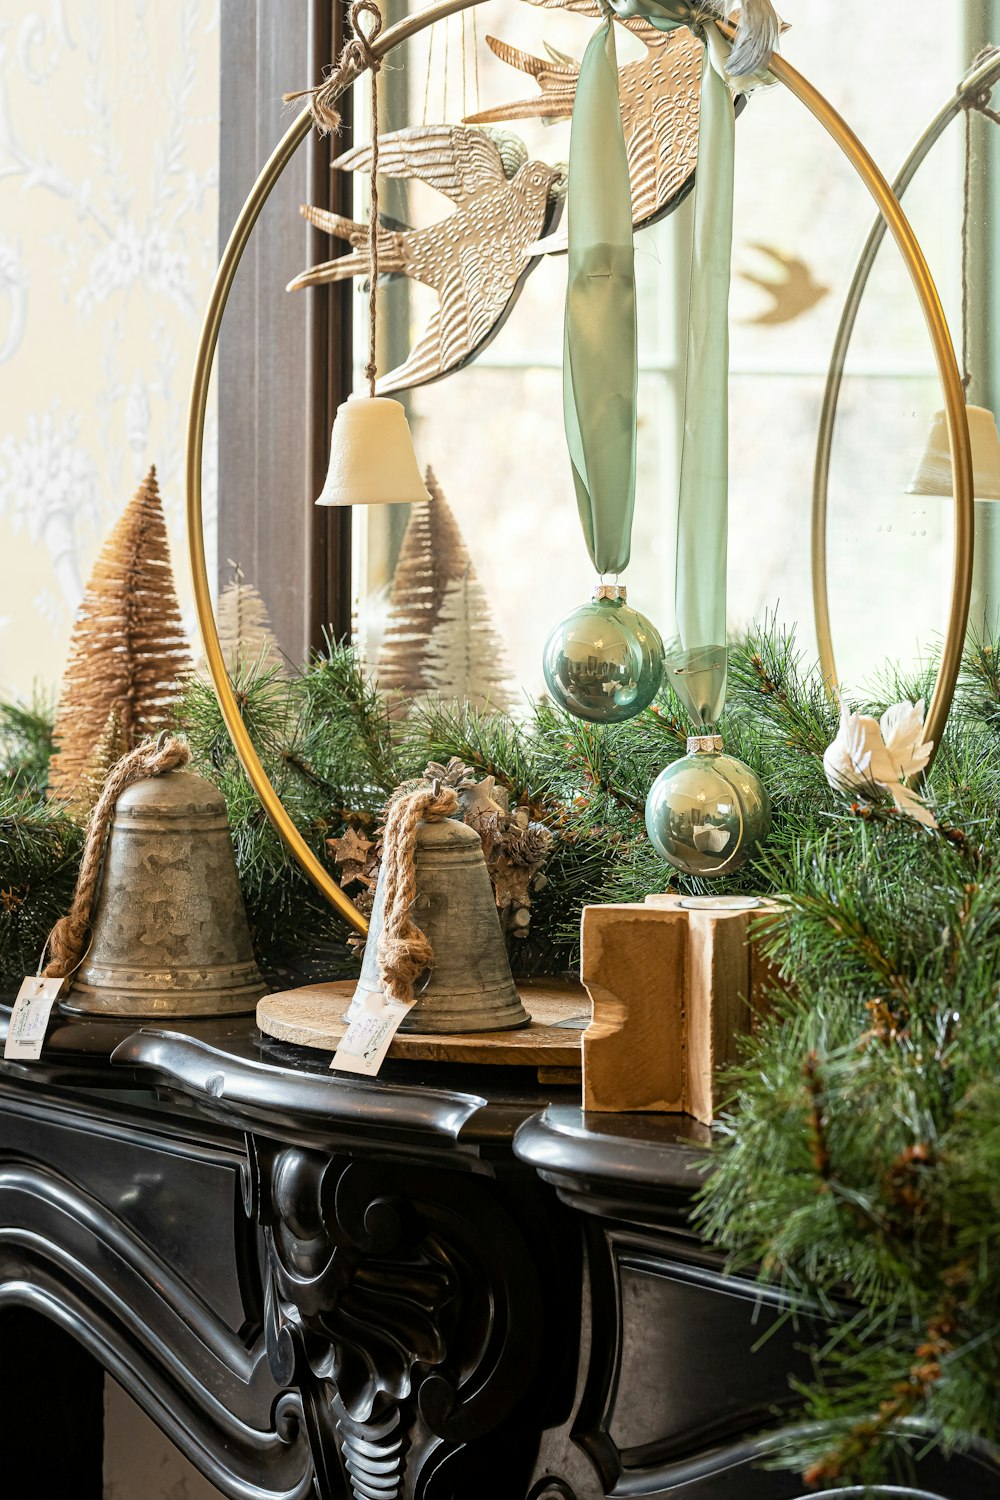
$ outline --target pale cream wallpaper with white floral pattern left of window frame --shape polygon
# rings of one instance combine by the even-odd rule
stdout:
[[[150,464],[187,600],[217,135],[219,0],[0,0],[0,694],[58,682],[93,555]],[[205,436],[214,513],[214,420]]]

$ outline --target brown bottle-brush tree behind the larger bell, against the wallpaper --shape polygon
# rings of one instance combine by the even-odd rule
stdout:
[[[55,712],[48,784],[75,802],[115,714],[123,752],[172,723],[190,672],[169,564],[166,524],[151,468],[105,542],[69,646]]]

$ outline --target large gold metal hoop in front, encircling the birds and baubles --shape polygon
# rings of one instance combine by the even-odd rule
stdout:
[[[435,4],[427,6],[414,15],[406,16],[397,26],[390,27],[382,32],[382,34],[373,44],[373,52],[376,57],[385,57],[393,48],[399,46],[402,42],[408,40],[411,36],[423,32],[426,27],[432,26],[435,21],[441,21],[448,15],[454,15],[459,10],[468,10],[474,4],[481,4],[483,0],[436,0]],[[720,30],[727,36],[733,34],[733,28],[726,22],[717,22]],[[924,260],[921,246],[916,242],[916,236],[910,228],[906,214],[903,213],[900,204],[897,202],[889,183],[885,180],[871,156],[865,152],[864,146],[858,136],[849,129],[849,126],[841,120],[837,111],[823,99],[822,94],[813,88],[811,84],[802,78],[793,68],[789,66],[781,57],[772,60],[771,68],[774,76],[783,82],[795,98],[810,110],[811,114],[820,122],[820,124],[834,138],[837,146],[850,160],[852,166],[856,170],[858,176],[862,178],[868,190],[871,192],[879,212],[885,218],[892,236],[900,246],[900,252],[907,264],[910,276],[913,278],[913,285],[919,297],[924,315],[927,318],[928,330],[931,334],[931,342],[934,345],[934,356],[937,360],[937,369],[942,380],[942,387],[945,392],[945,408],[948,412],[948,430],[952,446],[952,464],[955,470],[955,558],[957,558],[957,574],[955,574],[955,590],[952,596],[952,615],[949,621],[949,639],[946,642],[946,654],[942,660],[942,670],[939,674],[937,687],[934,692],[934,699],[931,702],[931,712],[928,716],[928,730],[934,741],[940,738],[940,729],[943,728],[945,718],[948,717],[948,706],[951,704],[951,694],[955,686],[955,678],[958,675],[958,662],[961,658],[961,640],[966,630],[966,618],[969,615],[969,596],[972,585],[972,522],[973,522],[973,501],[972,501],[972,456],[969,450],[969,428],[966,424],[966,404],[963,396],[961,376],[958,374],[958,364],[955,362],[955,351],[952,348],[951,336],[948,333],[948,324],[945,321],[945,312],[937,296],[937,290],[931,279],[931,273]],[[211,366],[214,362],[216,345],[219,342],[219,328],[222,326],[222,315],[225,312],[226,300],[229,297],[229,290],[237,273],[237,267],[247,246],[253,225],[256,224],[259,213],[267,202],[274,183],[285,171],[289,159],[304,141],[312,126],[312,117],[307,110],[304,110],[298,118],[285,132],[274,152],[268,158],[261,171],[261,176],[253,183],[250,194],[240,210],[240,216],[232,226],[232,234],[229,236],[229,243],[225,248],[219,270],[216,272],[216,280],[211,288],[211,296],[208,298],[208,308],[205,310],[205,318],[201,330],[201,339],[198,342],[198,354],[195,358],[195,372],[192,380],[190,392],[190,408],[187,416],[187,546],[190,555],[190,570],[195,591],[195,606],[198,610],[198,622],[201,626],[201,633],[205,646],[205,660],[208,663],[208,670],[211,674],[211,681],[214,684],[216,694],[219,698],[219,706],[222,710],[222,717],[225,718],[226,728],[232,736],[232,744],[235,746],[237,754],[243,762],[250,783],[261,798],[267,816],[271,819],[279,834],[288,844],[291,854],[295,856],[298,864],[303,867],[306,874],[316,884],[322,894],[331,902],[331,904],[345,916],[357,932],[366,932],[367,924],[361,914],[357,910],[354,903],[343,894],[336,880],[330,876],[327,870],[319,864],[312,849],[306,844],[304,838],[292,824],[291,818],[285,812],[282,801],[267,778],[267,772],[261,765],[261,760],[250,742],[250,736],[246,730],[246,724],[240,716],[240,708],[229,682],[229,676],[225,669],[225,662],[222,657],[222,648],[219,645],[219,632],[216,630],[216,621],[211,609],[211,586],[208,584],[208,570],[205,564],[205,540],[204,540],[204,524],[202,524],[202,508],[201,508],[201,466],[202,466],[202,448],[204,448],[204,428],[205,428],[205,408],[208,402],[208,381],[211,376]],[[948,652],[948,646],[958,640],[958,648],[954,662],[952,656]],[[951,674],[951,675],[949,675]],[[945,692],[943,692],[945,688]],[[943,704],[943,711],[942,711]]]

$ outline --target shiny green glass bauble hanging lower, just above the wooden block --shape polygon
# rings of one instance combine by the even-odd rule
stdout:
[[[660,772],[646,798],[646,832],[685,874],[732,874],[771,828],[760,777],[723,754],[718,735],[688,740],[688,754]]]

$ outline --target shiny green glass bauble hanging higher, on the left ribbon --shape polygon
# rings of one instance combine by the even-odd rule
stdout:
[[[595,724],[618,724],[657,696],[663,640],[657,627],[625,603],[624,588],[607,586],[559,621],[541,664],[559,708]]]

